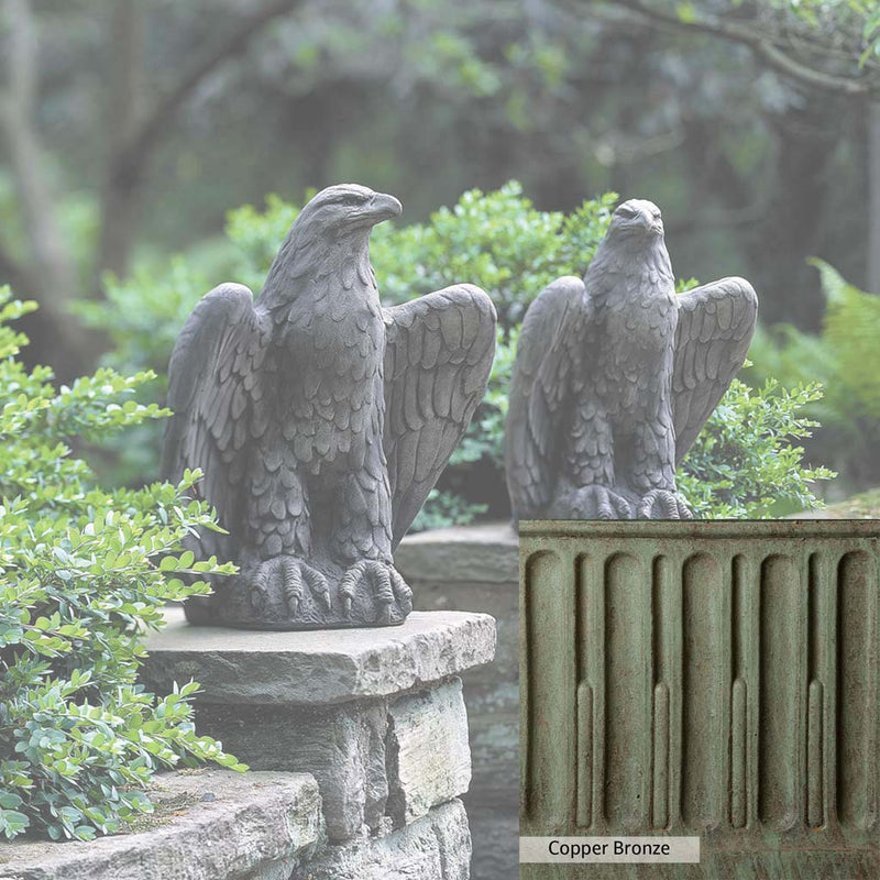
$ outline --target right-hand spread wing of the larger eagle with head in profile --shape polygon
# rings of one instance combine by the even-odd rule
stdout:
[[[384,312],[385,455],[396,547],[483,399],[496,317],[488,296],[470,284]]]

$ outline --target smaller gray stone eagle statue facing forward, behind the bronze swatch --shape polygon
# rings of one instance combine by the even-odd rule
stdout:
[[[522,321],[505,437],[514,520],[690,518],[675,468],[757,314],[743,278],[676,295],[659,208],[620,205],[583,280],[548,285]]]

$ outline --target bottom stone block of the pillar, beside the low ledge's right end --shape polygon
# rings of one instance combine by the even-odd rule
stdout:
[[[391,834],[329,847],[290,880],[468,880],[471,835],[461,801]]]

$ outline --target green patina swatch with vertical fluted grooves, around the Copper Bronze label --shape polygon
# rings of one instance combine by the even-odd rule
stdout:
[[[880,522],[520,524],[520,833],[700,835],[700,866],[880,877]]]

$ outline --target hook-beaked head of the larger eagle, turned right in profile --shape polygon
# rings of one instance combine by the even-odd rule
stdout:
[[[376,223],[399,217],[402,211],[394,196],[358,184],[338,184],[315,196],[294,226],[329,238],[346,238],[369,233]]]

